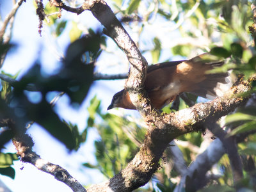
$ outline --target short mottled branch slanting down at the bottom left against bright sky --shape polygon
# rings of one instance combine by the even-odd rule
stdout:
[[[55,179],[67,184],[73,191],[86,192],[86,189],[72,177],[67,170],[61,168],[57,164],[49,163],[45,161],[35,152],[31,150],[33,146],[32,139],[28,134],[20,134],[13,139],[13,145],[17,150],[17,154],[20,156],[21,161],[25,163],[33,164],[38,170],[42,172],[49,173],[55,177]]]

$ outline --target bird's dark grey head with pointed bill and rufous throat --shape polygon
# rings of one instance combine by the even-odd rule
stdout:
[[[129,93],[125,90],[115,93],[111,104],[108,106],[108,110],[113,108],[136,109],[136,107],[131,102]]]

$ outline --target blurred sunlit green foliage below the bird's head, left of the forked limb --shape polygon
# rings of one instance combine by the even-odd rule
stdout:
[[[84,166],[98,168],[106,177],[113,177],[134,157],[145,129],[122,116],[102,113],[97,97],[91,100],[88,112],[88,126],[97,129],[100,140],[95,141],[97,165],[85,163]],[[97,124],[97,121],[103,123]]]

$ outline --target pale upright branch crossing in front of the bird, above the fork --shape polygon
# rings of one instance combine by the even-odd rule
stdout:
[[[132,103],[139,111],[143,111],[143,116],[150,111],[150,102],[143,92],[143,83],[147,72],[147,60],[142,56],[138,47],[116,18],[111,8],[109,8],[108,4],[104,0],[87,0],[79,8],[70,8],[62,1],[51,0],[51,3],[68,12],[79,14],[84,10],[90,10],[93,13],[93,16],[106,28],[104,31],[106,35],[110,36],[118,47],[125,52],[127,59],[131,63],[129,78],[125,83],[125,89],[129,92]],[[140,99],[138,93],[141,95]]]

